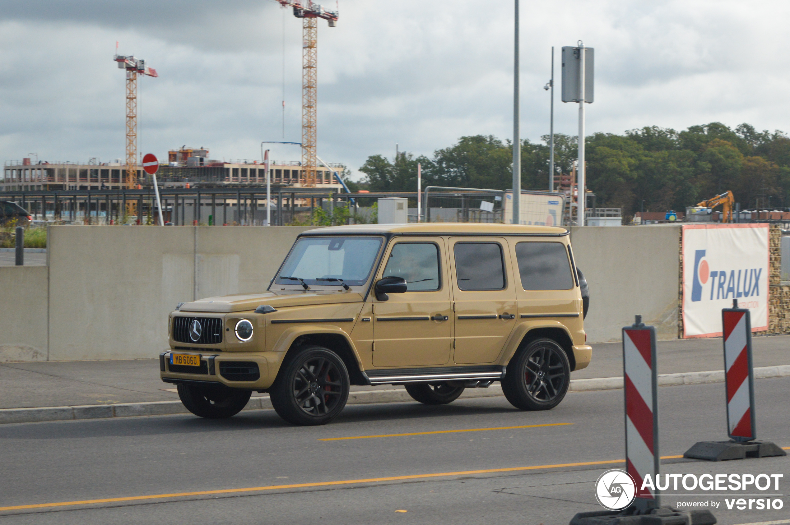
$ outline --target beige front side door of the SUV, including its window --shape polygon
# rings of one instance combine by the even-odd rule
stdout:
[[[398,276],[407,291],[382,301],[373,294],[373,366],[438,366],[450,362],[452,321],[441,237],[398,239],[377,280]]]

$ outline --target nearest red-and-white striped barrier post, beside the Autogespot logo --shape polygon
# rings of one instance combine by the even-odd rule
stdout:
[[[623,381],[626,397],[626,472],[636,482],[634,506],[640,510],[658,508],[658,491],[642,489],[649,475],[656,479],[658,452],[658,376],[656,329],[645,326],[636,316],[632,326],[623,328]]]

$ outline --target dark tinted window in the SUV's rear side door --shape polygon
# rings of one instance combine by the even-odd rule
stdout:
[[[457,242],[455,272],[461,290],[502,290],[505,287],[502,246],[498,242]]]

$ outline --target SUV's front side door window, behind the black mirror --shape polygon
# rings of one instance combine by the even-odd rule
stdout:
[[[439,282],[439,249],[433,242],[398,242],[383,277],[403,277],[407,291],[434,291]]]

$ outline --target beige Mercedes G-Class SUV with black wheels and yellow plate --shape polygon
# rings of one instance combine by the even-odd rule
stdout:
[[[161,377],[203,418],[228,418],[252,392],[269,392],[286,421],[322,425],[351,385],[402,384],[420,403],[442,404],[494,381],[513,406],[547,410],[592,357],[586,290],[559,227],[305,231],[268,291],[171,313]]]

